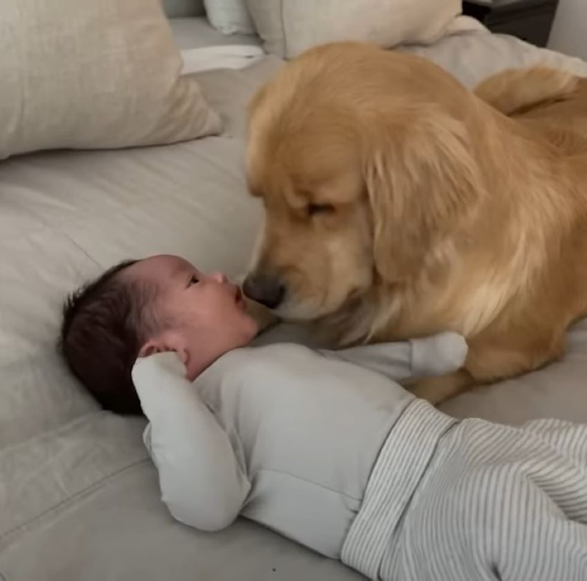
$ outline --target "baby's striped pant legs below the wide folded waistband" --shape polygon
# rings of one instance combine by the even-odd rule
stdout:
[[[587,580],[587,426],[463,421],[399,534],[385,580]]]

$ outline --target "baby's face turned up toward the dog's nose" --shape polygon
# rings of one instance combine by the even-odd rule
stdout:
[[[223,274],[203,274],[187,260],[166,254],[139,261],[127,275],[157,288],[155,316],[169,321],[167,336],[179,339],[186,350],[189,379],[198,374],[202,354],[215,359],[256,335],[257,323],[245,311],[240,288]]]

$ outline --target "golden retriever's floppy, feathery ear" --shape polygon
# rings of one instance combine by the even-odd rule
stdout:
[[[389,283],[420,272],[475,207],[483,187],[463,122],[428,107],[363,135],[374,264]]]

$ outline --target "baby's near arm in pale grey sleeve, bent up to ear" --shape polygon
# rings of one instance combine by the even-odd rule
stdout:
[[[173,352],[138,359],[133,381],[151,422],[144,440],[163,502],[175,519],[202,531],[229,526],[251,484],[227,433],[185,378],[184,365]]]

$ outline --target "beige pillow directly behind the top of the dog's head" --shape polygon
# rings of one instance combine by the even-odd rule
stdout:
[[[461,0],[247,0],[247,6],[265,50],[282,58],[332,41],[385,48],[434,42],[461,13]]]

